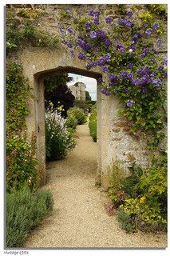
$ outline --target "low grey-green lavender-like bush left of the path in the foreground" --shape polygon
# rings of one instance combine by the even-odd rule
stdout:
[[[30,230],[53,210],[53,195],[49,190],[13,191],[6,195],[6,247],[23,246]]]

